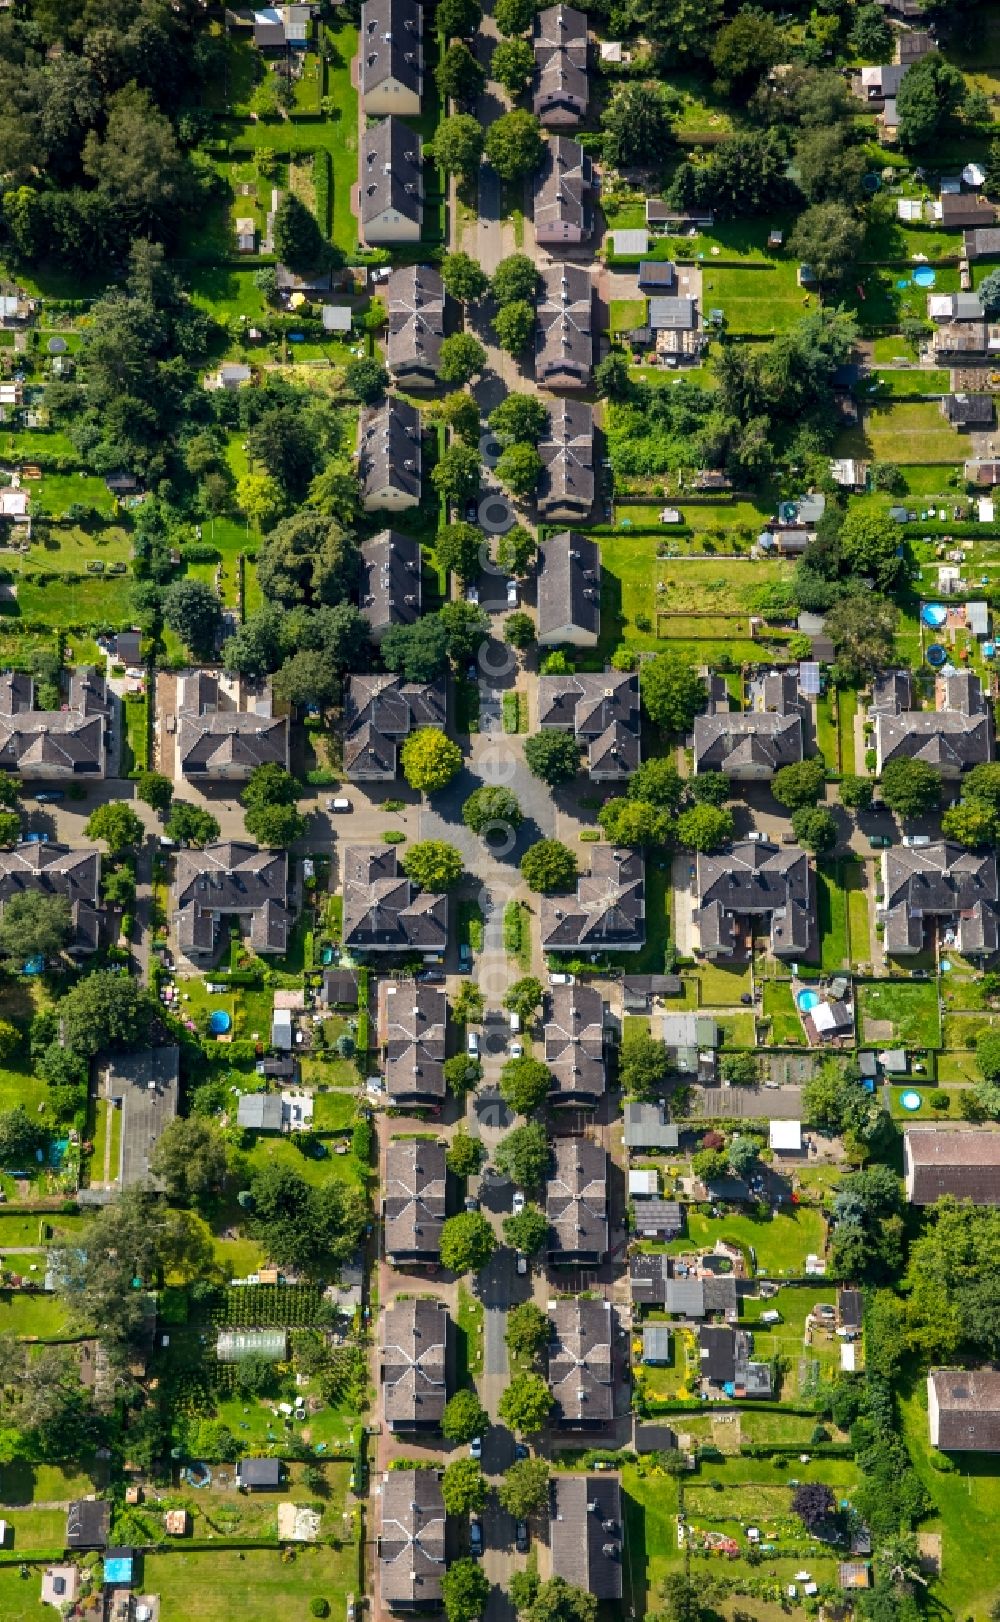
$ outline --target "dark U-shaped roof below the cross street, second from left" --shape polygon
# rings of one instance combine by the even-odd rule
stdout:
[[[212,952],[224,918],[250,923],[254,952],[282,954],[288,946],[288,856],[284,850],[222,840],[204,850],[178,850],[173,920],[183,952]],[[229,939],[229,928],[225,928]]]

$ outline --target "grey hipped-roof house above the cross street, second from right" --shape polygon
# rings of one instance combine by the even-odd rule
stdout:
[[[754,699],[749,710],[729,710],[724,697],[712,696],[708,714],[695,715],[695,772],[759,782],[802,759],[804,706],[794,672],[771,672],[757,683]]]

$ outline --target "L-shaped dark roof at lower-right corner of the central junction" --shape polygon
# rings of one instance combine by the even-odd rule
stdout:
[[[622,950],[645,939],[645,861],[639,850],[592,845],[590,873],[574,895],[541,897],[546,952]]]

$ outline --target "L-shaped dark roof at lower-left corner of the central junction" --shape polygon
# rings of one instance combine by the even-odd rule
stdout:
[[[444,950],[447,895],[417,890],[395,847],[348,845],[342,855],[344,946],[352,950]]]

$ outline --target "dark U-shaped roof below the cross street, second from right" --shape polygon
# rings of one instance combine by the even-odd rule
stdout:
[[[770,915],[775,957],[804,955],[815,942],[815,886],[809,856],[796,845],[739,840],[697,858],[695,920],[702,947],[731,946],[733,920]]]

